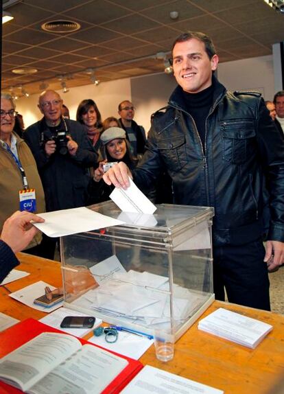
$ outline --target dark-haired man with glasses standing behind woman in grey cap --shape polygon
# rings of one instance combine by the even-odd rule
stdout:
[[[132,102],[128,100],[121,102],[118,107],[118,113],[120,116],[119,126],[126,131],[132,154],[135,157],[142,156],[146,143],[145,130],[133,120],[135,111]]]

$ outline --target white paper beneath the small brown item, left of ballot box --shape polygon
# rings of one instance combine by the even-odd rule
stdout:
[[[46,308],[41,305],[36,305],[34,303],[34,299],[41,297],[45,294],[46,286],[48,286],[50,290],[55,289],[55,287],[51,286],[49,283],[45,283],[44,281],[38,281],[36,283],[32,283],[32,285],[22,288],[21,290],[17,290],[16,292],[9,294],[9,297],[16,299],[16,301],[20,301],[21,303],[24,303],[30,308],[49,313],[60,308],[60,306],[62,306],[63,304],[63,301],[60,301],[56,303],[56,305],[51,306],[49,308]]]

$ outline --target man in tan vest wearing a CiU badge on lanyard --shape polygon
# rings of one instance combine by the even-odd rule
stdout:
[[[13,129],[15,106],[9,94],[1,93],[0,128],[0,232],[14,211],[45,211],[43,185],[29,147]],[[40,233],[27,246],[27,253],[39,254]]]

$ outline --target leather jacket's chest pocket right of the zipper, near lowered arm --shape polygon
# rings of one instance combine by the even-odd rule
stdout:
[[[255,137],[252,121],[226,121],[223,130],[223,160],[233,164],[245,163]]]

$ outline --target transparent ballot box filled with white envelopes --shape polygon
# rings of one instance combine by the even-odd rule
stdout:
[[[64,305],[147,334],[171,329],[178,339],[214,300],[213,208],[89,208],[125,224],[61,238]]]

